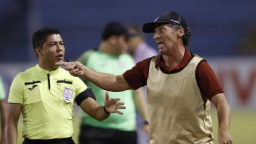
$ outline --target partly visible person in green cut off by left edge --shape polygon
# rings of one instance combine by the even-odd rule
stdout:
[[[5,144],[4,127],[6,124],[6,102],[3,79],[0,76],[0,113],[1,113],[1,140],[0,144]]]

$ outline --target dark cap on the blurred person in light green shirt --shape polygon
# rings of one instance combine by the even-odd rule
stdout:
[[[102,40],[107,40],[112,35],[124,35],[129,38],[130,33],[120,22],[109,22],[102,30]]]

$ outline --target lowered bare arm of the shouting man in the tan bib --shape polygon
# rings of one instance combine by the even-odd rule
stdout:
[[[230,124],[230,106],[225,98],[224,93],[218,93],[212,97],[212,102],[218,111],[219,120],[219,144],[232,144],[232,139],[229,134]]]

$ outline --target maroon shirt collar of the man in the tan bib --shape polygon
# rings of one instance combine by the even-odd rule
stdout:
[[[173,73],[173,72],[177,72],[177,71],[181,70],[182,68],[186,67],[192,58],[193,58],[193,55],[191,54],[191,52],[189,52],[188,49],[185,48],[185,53],[182,58],[182,61],[180,61],[180,63],[178,65],[176,65],[175,67],[173,67],[172,69],[165,66],[164,60],[163,60],[163,55],[157,56],[156,67],[160,67],[161,70],[166,73]]]

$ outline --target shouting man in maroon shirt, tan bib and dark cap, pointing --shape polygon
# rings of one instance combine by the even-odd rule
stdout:
[[[218,111],[218,143],[232,143],[228,132],[230,106],[223,93],[223,88],[209,64],[204,59],[189,52],[186,48],[191,36],[191,29],[185,20],[175,12],[164,13],[164,15],[157,17],[154,22],[144,24],[143,31],[145,33],[154,33],[159,56],[136,63],[131,70],[127,70],[123,75],[113,76],[95,72],[84,67],[79,62],[62,62],[56,63],[56,65],[64,65],[73,76],[84,77],[100,88],[112,92],[129,89],[136,90],[141,86],[147,85],[149,113],[150,109],[152,110],[152,119],[149,121],[150,127],[152,127],[150,129],[150,133],[152,133],[151,143],[213,143],[211,118],[209,117],[210,101],[213,102]],[[196,97],[199,95],[201,99]],[[195,104],[191,99],[195,100]],[[166,100],[170,103],[166,103]],[[182,100],[184,101],[183,103]],[[175,103],[179,103],[179,105],[176,106]],[[164,104],[166,105],[165,107],[162,106]],[[172,111],[175,107],[167,106],[168,104],[177,107],[176,110],[178,112]],[[196,104],[199,107],[193,106]],[[189,114],[191,111],[195,115]],[[203,115],[201,115],[201,111]],[[186,115],[182,115],[179,112]],[[155,119],[162,123],[157,124],[154,116]],[[182,120],[186,120],[184,125],[180,123],[183,122]],[[170,124],[172,123],[171,121],[177,122],[177,125],[175,123]],[[164,123],[167,123],[167,125]],[[162,127],[164,133],[161,132],[161,127],[158,125],[166,125],[167,130],[166,127]],[[170,129],[168,129],[168,125],[170,125]],[[168,133],[169,135],[165,137],[161,136],[166,132],[173,132],[173,134]],[[172,135],[175,136],[173,137]],[[163,139],[166,140],[163,141]]]

